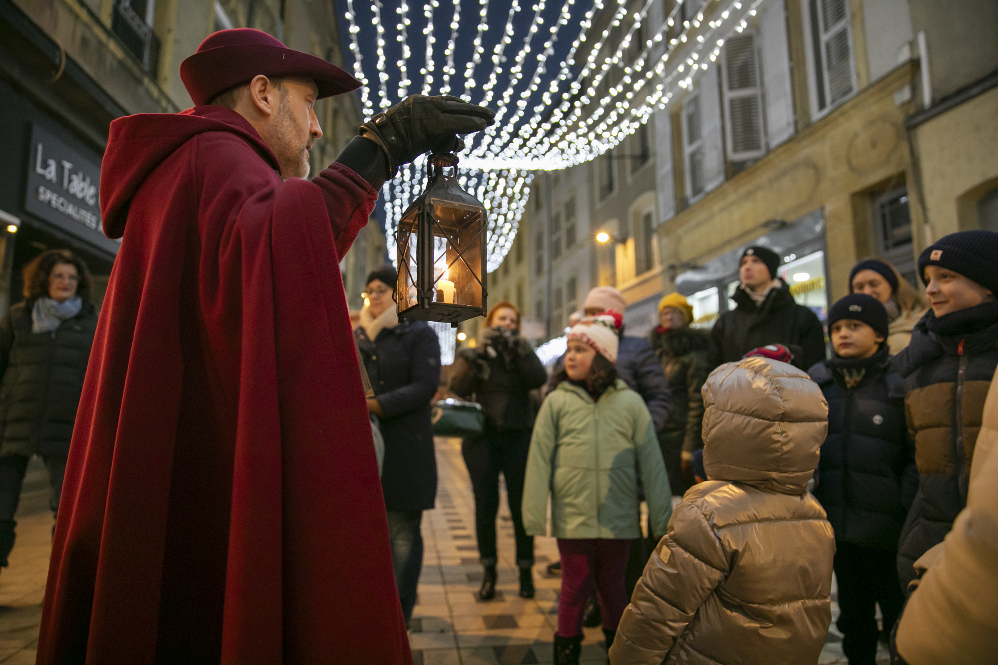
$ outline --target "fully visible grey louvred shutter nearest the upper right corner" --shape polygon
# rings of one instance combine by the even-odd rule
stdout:
[[[762,95],[758,85],[755,36],[749,32],[725,42],[726,133],[728,159],[744,162],[765,153]]]

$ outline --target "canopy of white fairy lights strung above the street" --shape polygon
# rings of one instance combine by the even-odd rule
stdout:
[[[750,17],[755,16],[764,0],[705,0],[686,20],[682,20],[686,14],[681,0],[654,30],[646,27],[653,6],[661,0],[644,0],[640,9],[634,8],[630,14],[628,0],[589,0],[592,4],[578,23],[572,21],[573,10],[587,0],[562,0],[557,18],[548,20],[548,25],[544,15],[548,4],[554,4],[550,0],[533,0],[529,6],[525,0],[509,0],[505,25],[490,54],[486,54],[486,36],[497,26],[489,25],[489,9],[500,0],[478,0],[477,30],[460,83],[456,80],[455,54],[462,0],[451,0],[450,31],[439,66],[435,62],[438,52],[434,16],[445,11],[441,4],[446,0],[422,0],[420,7],[411,6],[411,1],[400,0],[394,9],[391,38],[400,45],[400,57],[391,69],[397,74],[392,76],[385,53],[391,31],[384,2],[373,0],[371,25],[368,28],[363,22],[362,31],[354,0],[346,0],[353,75],[362,84],[360,104],[364,116],[371,117],[415,92],[459,94],[462,99],[496,111],[495,125],[470,138],[469,148],[461,155],[458,178],[461,187],[482,201],[488,211],[488,270],[492,271],[512,246],[533,172],[573,167],[618,146],[646,123],[656,108],[665,109],[692,88],[694,81],[716,63],[725,40],[748,27]],[[695,0],[685,2],[689,6]],[[465,17],[470,4],[464,0]],[[421,28],[411,18],[414,13],[418,16],[419,9]],[[612,12],[609,22],[597,20],[603,10]],[[522,43],[514,45],[516,26],[524,24],[518,19],[527,11],[532,12],[529,28]],[[596,23],[602,30],[594,30]],[[572,35],[567,55],[557,72],[549,75],[548,61],[556,52],[559,37],[564,37],[566,26],[574,30],[576,25],[578,32]],[[409,44],[418,31],[423,33],[425,44],[421,61],[417,61]],[[364,70],[361,39],[373,40],[375,46],[370,77]],[[478,69],[489,61],[488,79],[479,85],[483,77]],[[418,84],[410,78],[416,71],[422,77]],[[395,95],[391,95],[388,84],[395,76],[397,86]],[[422,191],[425,178],[425,159],[419,158],[401,168],[382,190],[388,252],[393,260],[395,227]]]

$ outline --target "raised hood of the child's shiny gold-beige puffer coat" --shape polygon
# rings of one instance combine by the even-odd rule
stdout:
[[[711,372],[703,393],[708,477],[802,494],[828,431],[817,384],[793,365],[752,356]]]

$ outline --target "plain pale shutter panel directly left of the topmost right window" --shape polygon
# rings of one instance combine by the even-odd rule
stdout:
[[[765,98],[765,130],[769,150],[772,150],[793,136],[795,130],[790,53],[782,2],[774,2],[763,12],[758,26],[758,41]]]

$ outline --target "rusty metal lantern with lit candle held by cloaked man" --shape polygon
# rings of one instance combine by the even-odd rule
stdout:
[[[485,208],[457,185],[457,156],[427,160],[426,191],[402,214],[398,247],[398,318],[457,327],[485,315]],[[450,176],[444,173],[452,167]]]

